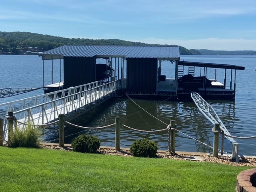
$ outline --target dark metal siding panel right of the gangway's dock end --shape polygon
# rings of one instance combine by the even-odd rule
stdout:
[[[157,58],[127,58],[127,92],[155,92]]]

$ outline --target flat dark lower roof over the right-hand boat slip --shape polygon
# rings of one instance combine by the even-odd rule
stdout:
[[[221,68],[221,69],[245,70],[245,67],[242,67],[242,66],[229,65],[229,64],[217,64],[217,63],[199,63],[199,62],[190,62],[190,61],[179,61],[179,65],[195,66],[195,67]]]

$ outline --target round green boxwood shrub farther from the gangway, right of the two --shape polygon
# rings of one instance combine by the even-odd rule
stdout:
[[[157,144],[155,141],[140,139],[133,142],[130,151],[134,156],[154,157],[157,152]]]

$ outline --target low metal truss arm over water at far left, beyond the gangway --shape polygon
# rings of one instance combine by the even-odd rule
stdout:
[[[8,87],[0,88],[0,98],[11,97],[14,95],[19,95],[22,93],[27,93],[30,91],[35,91],[41,89],[42,87]]]

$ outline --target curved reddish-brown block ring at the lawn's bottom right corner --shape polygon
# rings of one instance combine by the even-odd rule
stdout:
[[[256,192],[256,169],[247,169],[237,175],[237,192]]]

